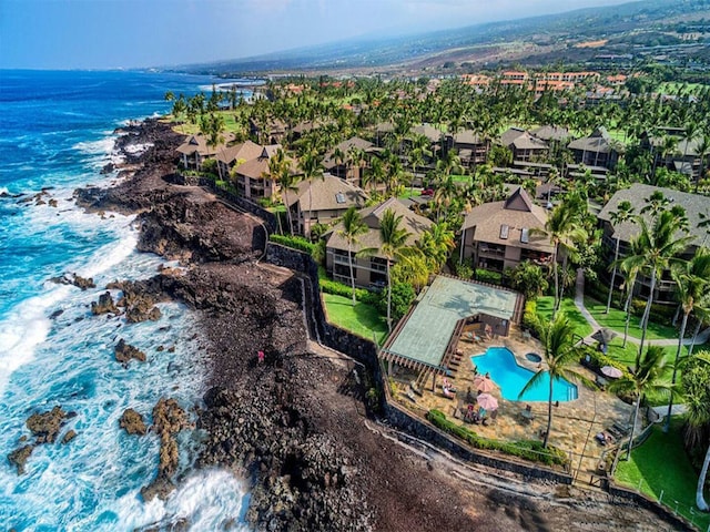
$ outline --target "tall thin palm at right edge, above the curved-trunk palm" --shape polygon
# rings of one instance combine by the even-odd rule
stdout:
[[[673,362],[673,377],[671,385],[676,385],[678,372],[678,360],[680,351],[683,348],[683,338],[686,336],[686,327],[688,326],[688,316],[692,313],[698,304],[702,300],[703,295],[710,287],[710,249],[707,247],[698,249],[696,255],[687,263],[680,264],[671,272],[673,280],[678,285],[678,298],[683,309],[683,320],[680,324],[680,334],[678,337],[678,349],[676,350],[676,360]],[[668,416],[663,432],[670,429],[670,415],[673,409],[673,398],[668,401]]]

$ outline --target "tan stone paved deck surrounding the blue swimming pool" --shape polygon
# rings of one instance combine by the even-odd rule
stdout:
[[[454,419],[456,408],[466,407],[466,395],[468,388],[475,397],[476,387],[474,385],[474,367],[471,356],[484,352],[488,347],[507,347],[516,357],[517,362],[531,371],[537,371],[538,362],[531,362],[525,358],[527,352],[541,352],[542,346],[535,338],[526,337],[520,329],[514,327],[510,336],[506,338],[491,339],[488,341],[470,342],[463,337],[457,348],[463,351],[462,364],[449,377],[456,387],[456,398],[448,399],[442,392],[442,378],[436,378],[435,391],[432,391],[432,378],[426,382],[423,395],[416,396],[413,400],[405,395],[406,387],[416,379],[416,375],[407,374],[399,369],[395,375],[395,381],[399,382],[399,400],[410,408],[422,409],[422,411],[437,409],[443,411],[448,419]],[[545,367],[545,362],[541,362]],[[594,381],[595,375],[588,369],[578,366],[574,368],[577,372],[585,375]],[[597,468],[602,453],[609,450],[595,440],[595,434],[611,427],[615,422],[627,424],[632,413],[632,407],[625,403],[615,395],[605,391],[594,391],[576,382],[578,398],[572,401],[559,402],[552,406],[552,428],[549,442],[564,450],[571,452],[572,473],[579,469],[579,478],[585,480],[589,473],[597,473]],[[489,424],[464,423],[459,418],[455,420],[459,424],[465,424],[476,433],[500,440],[541,439],[541,433],[547,428],[547,401],[508,401],[503,399],[500,390],[491,392],[498,399],[498,418]],[[523,412],[526,406],[531,408],[532,419],[524,418]],[[581,459],[580,462],[580,457]]]

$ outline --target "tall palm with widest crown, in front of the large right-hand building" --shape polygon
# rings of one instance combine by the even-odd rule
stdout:
[[[648,300],[646,301],[646,309],[641,317],[641,341],[637,355],[638,367],[638,360],[641,357],[643,342],[646,340],[656,282],[665,269],[679,263],[680,259],[677,258],[677,255],[686,249],[693,237],[688,235],[679,237],[677,235],[687,223],[684,211],[679,206],[660,213],[660,215],[653,219],[651,227],[649,227],[646,218],[642,216],[637,216],[636,219],[641,227],[639,235],[633,238],[636,254],[626,257],[622,264],[626,265],[626,268],[636,267],[639,272],[650,273],[651,276]]]

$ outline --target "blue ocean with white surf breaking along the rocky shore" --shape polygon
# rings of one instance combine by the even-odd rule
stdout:
[[[156,473],[155,434],[128,436],[119,418],[133,408],[151,419],[160,397],[189,410],[205,391],[204,349],[192,339],[195,316],[161,304],[156,323],[94,317],[90,304],[114,279],[155,274],[162,259],[135,250],[130,216],[85,214],[72,192],[110,186],[113,131],[170,110],[166,91],[210,90],[203,76],[153,72],[0,71],[0,528],[19,531],[129,531],[169,528],[241,530],[244,482],[227,471],[193,471],[196,431],[181,433],[180,487],[144,503]],[[41,201],[21,200],[42,190]],[[10,197],[23,194],[22,197]],[[54,200],[54,202],[50,202]],[[85,291],[49,282],[93,277]],[[115,361],[119,338],[146,354]],[[162,349],[159,349],[162,346]],[[174,347],[174,352],[170,352]],[[7,456],[31,437],[26,419],[61,406],[77,412],[57,443],[38,446],[18,475]],[[59,442],[74,430],[69,443]]]

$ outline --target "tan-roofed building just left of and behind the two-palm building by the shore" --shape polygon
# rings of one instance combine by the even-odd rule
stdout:
[[[288,211],[294,232],[308,236],[314,224],[332,224],[352,206],[362,207],[367,194],[351,183],[324,174],[322,180],[302,181],[288,193]]]

